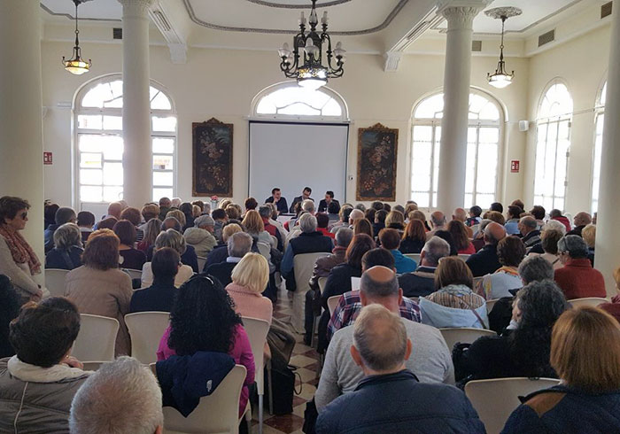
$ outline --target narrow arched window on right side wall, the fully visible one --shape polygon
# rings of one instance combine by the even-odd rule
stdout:
[[[569,89],[553,81],[539,105],[534,174],[534,204],[547,210],[564,209],[572,111]]]

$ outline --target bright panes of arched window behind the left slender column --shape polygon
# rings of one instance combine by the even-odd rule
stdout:
[[[78,92],[74,105],[79,203],[123,198],[123,82],[120,74],[92,81]],[[151,81],[152,197],[174,196],[176,116],[170,97]],[[130,168],[129,168],[130,170]]]

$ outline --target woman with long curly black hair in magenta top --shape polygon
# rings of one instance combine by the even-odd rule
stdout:
[[[170,313],[170,325],[159,341],[157,360],[202,352],[229,354],[236,364],[247,369],[239,399],[241,415],[254,383],[255,368],[250,340],[233,306],[228,292],[209,275],[198,275],[183,283]]]

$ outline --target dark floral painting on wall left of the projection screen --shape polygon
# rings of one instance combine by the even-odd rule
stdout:
[[[231,198],[233,125],[214,118],[191,124],[194,197]]]

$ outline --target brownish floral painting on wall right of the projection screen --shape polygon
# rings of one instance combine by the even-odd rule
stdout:
[[[399,130],[381,124],[358,130],[356,200],[396,200]]]

